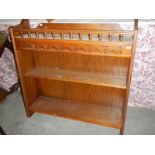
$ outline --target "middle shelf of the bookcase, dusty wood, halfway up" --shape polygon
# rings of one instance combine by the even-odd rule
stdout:
[[[126,89],[125,77],[98,72],[35,67],[25,76]]]

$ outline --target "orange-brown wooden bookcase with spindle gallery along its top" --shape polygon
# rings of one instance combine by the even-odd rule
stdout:
[[[138,32],[118,24],[11,27],[27,116],[34,112],[120,129],[123,134]]]

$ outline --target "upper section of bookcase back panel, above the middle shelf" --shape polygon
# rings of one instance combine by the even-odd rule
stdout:
[[[49,51],[21,51],[32,53],[35,67],[60,68],[77,71],[103,72],[127,77],[130,59],[98,55]],[[50,58],[50,59],[49,59]],[[23,62],[28,61],[23,57]]]

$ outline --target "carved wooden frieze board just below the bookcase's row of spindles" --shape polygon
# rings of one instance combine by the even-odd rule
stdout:
[[[106,54],[106,55],[131,55],[131,48],[127,49],[122,46],[104,46],[94,44],[64,44],[55,42],[28,42],[28,41],[16,41],[17,49],[23,50],[49,50],[49,51],[62,51],[62,52],[83,52],[92,54]]]

